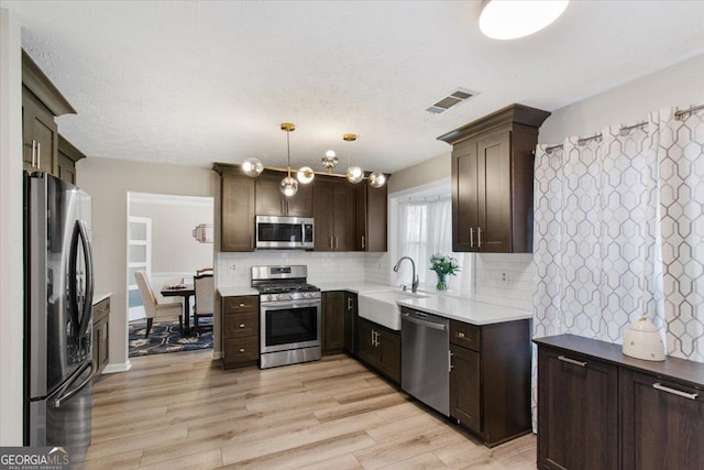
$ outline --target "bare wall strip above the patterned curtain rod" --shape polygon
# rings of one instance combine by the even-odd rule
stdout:
[[[704,103],[704,54],[552,112],[540,143],[593,135],[607,125],[634,124],[662,108]]]

